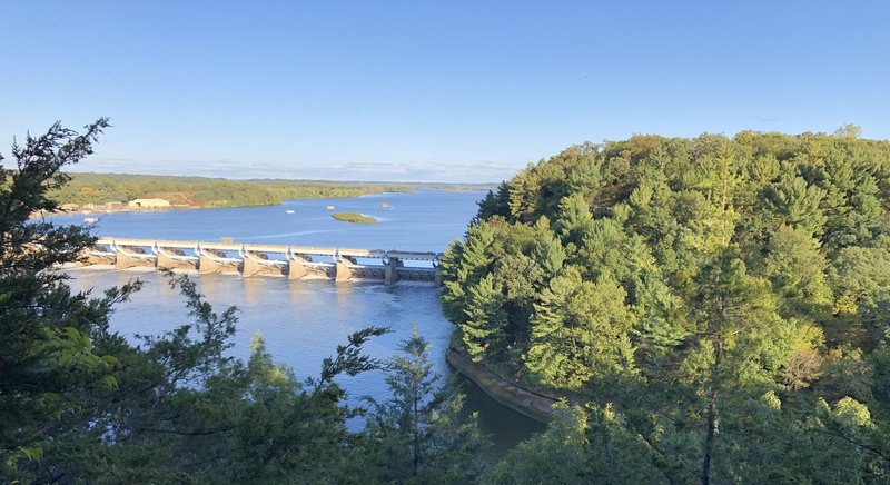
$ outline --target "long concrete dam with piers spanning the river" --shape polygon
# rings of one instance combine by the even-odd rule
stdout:
[[[103,237],[83,255],[87,265],[113,265],[117,269],[150,267],[197,270],[198,274],[237,273],[241,276],[276,275],[288,279],[308,277],[398,280],[441,285],[442,253],[349,249],[286,245]]]

